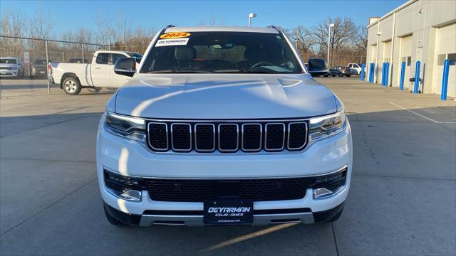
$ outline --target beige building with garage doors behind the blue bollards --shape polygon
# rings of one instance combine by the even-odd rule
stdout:
[[[383,63],[390,63],[388,86],[399,87],[405,62],[404,90],[413,90],[415,64],[420,60],[419,90],[440,94],[443,63],[450,59],[447,95],[456,93],[456,1],[410,0],[368,25],[366,80],[375,63],[374,82],[382,83]]]

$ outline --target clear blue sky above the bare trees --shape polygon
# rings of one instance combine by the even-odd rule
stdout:
[[[176,26],[209,25],[216,18],[225,26],[246,26],[249,12],[257,13],[252,26],[276,25],[294,28],[313,26],[328,16],[351,17],[358,25],[367,24],[368,17],[383,16],[405,0],[337,0],[337,1],[0,1],[0,14],[16,10],[24,16],[38,11],[50,12],[53,33],[58,36],[78,28],[94,28],[98,11],[130,16],[132,28],[154,28],[155,31]]]

